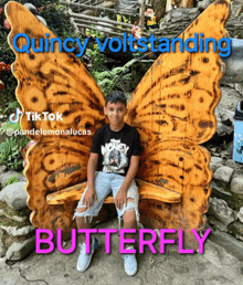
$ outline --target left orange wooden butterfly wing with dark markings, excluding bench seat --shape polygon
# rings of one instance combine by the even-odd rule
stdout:
[[[11,46],[18,33],[36,39],[36,46],[40,38],[46,33],[50,39],[55,38],[21,4],[9,2],[6,12],[12,27],[9,36]],[[21,38],[17,44],[22,46],[25,40]],[[53,53],[35,53],[32,49],[30,54],[15,53],[13,73],[19,82],[17,98],[24,110],[21,127],[27,131],[32,130],[28,136],[38,141],[29,151],[25,171],[31,221],[38,228],[68,231],[74,226],[72,217],[76,202],[53,207],[46,203],[46,196],[86,179],[93,134],[106,123],[103,112],[105,98],[73,54],[60,53],[57,49]],[[59,113],[63,120],[44,120],[44,115],[41,116],[42,120],[34,120],[32,116],[28,120],[28,112]],[[64,130],[65,134],[62,133]],[[54,131],[56,135],[53,135]],[[68,135],[70,131],[75,135]]]

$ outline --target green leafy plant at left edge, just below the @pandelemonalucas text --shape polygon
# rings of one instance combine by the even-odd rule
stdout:
[[[14,170],[21,170],[23,158],[20,147],[25,147],[30,139],[25,136],[10,137],[0,144],[0,163]]]

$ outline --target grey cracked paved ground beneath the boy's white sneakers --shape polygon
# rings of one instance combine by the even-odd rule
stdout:
[[[115,229],[117,221],[110,221],[99,228]],[[208,240],[203,254],[178,254],[177,245],[168,245],[165,254],[151,254],[147,250],[137,254],[138,273],[134,277],[126,275],[119,254],[118,235],[112,238],[112,254],[105,253],[105,236],[98,234],[99,247],[85,273],[76,271],[80,247],[70,255],[57,250],[51,254],[32,253],[28,258],[12,265],[0,260],[1,285],[220,285],[243,284],[243,262],[229,254],[224,247]],[[68,249],[71,242],[67,243]],[[159,242],[156,244],[159,252]]]

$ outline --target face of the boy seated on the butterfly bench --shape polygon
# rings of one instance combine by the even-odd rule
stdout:
[[[127,114],[127,108],[124,103],[110,103],[108,102],[106,107],[104,107],[104,113],[107,116],[110,124],[122,125],[124,123],[124,117]]]

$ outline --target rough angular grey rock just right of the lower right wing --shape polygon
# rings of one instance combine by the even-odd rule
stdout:
[[[211,198],[209,214],[214,215],[218,220],[223,222],[225,225],[236,221],[234,211],[228,207],[228,203],[224,200]]]

